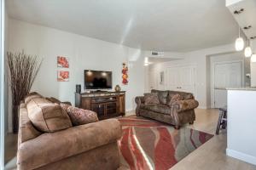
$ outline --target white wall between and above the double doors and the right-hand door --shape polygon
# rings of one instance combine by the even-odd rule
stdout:
[[[207,57],[209,57],[212,54],[225,54],[234,51],[234,44],[227,44],[214,48],[205,48],[184,54],[184,59],[178,59],[170,62],[150,65],[149,69],[151,71],[154,70],[159,73],[160,71],[166,71],[166,68],[172,65],[196,65],[196,99],[199,101],[201,108],[207,108],[210,107],[210,102],[207,102],[207,89],[210,88],[210,83],[208,83],[209,80],[207,80],[207,72],[210,71],[210,67],[209,65],[207,65]]]

